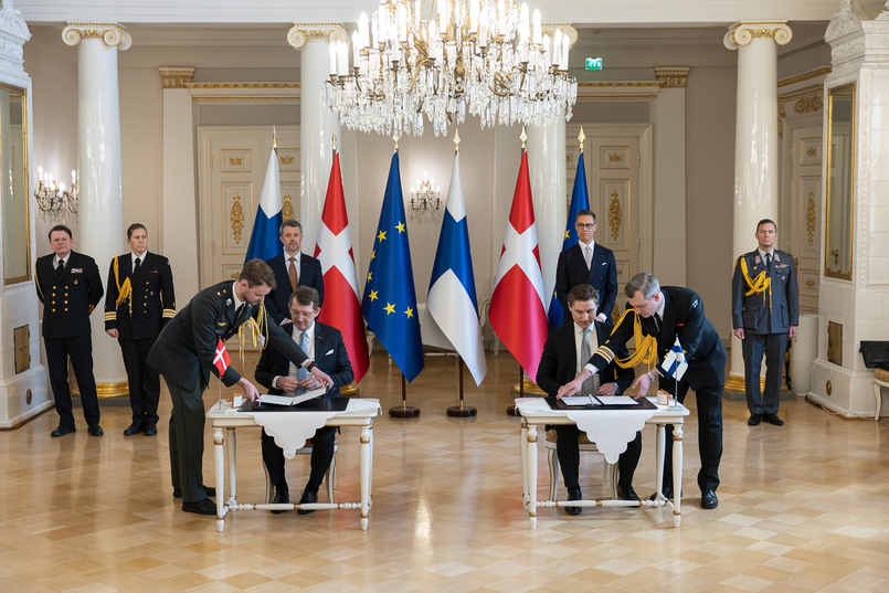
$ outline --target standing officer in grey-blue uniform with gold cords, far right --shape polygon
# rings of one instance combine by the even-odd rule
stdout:
[[[763,219],[756,223],[755,251],[738,257],[731,280],[731,321],[744,353],[744,393],[750,417],[756,426],[763,419],[776,426],[781,401],[781,371],[787,339],[800,325],[800,293],[793,255],[775,248],[777,226]],[[765,393],[760,393],[760,369],[765,352]]]

